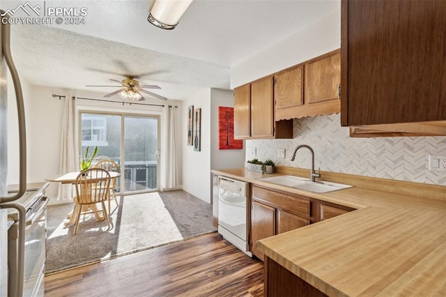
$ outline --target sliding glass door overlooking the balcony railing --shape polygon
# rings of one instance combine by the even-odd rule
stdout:
[[[159,116],[92,112],[81,112],[80,116],[81,153],[84,155],[89,147],[91,155],[98,146],[93,164],[105,159],[118,164],[118,192],[125,195],[158,190]]]

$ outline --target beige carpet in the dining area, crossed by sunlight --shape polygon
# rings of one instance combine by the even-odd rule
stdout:
[[[105,221],[85,215],[74,227],[64,227],[73,204],[47,210],[47,262],[45,273],[54,273],[111,257],[173,243],[215,231],[212,206],[183,190],[118,197],[119,208]],[[116,206],[112,201],[112,209]]]

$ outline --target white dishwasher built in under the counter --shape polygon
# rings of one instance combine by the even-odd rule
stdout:
[[[218,178],[218,233],[252,257],[248,243],[248,185],[232,178]]]

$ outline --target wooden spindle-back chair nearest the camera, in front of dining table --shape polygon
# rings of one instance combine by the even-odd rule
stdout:
[[[81,215],[86,215],[89,213],[100,213],[104,216],[107,221],[107,227],[110,229],[109,214],[107,213],[107,208],[105,208],[105,201],[109,197],[109,185],[110,185],[110,174],[105,169],[91,168],[81,172],[76,178],[76,197],[73,199],[75,201],[75,209],[73,215],[75,218],[75,231],[77,234],[77,229],[79,227],[79,220]],[[100,186],[98,186],[100,185]],[[96,208],[96,204],[102,204],[102,209]],[[89,207],[89,211],[85,211],[86,206]]]

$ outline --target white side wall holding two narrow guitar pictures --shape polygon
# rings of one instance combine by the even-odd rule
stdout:
[[[183,118],[183,190],[210,203],[210,89],[192,93],[183,101],[183,114],[187,107],[201,108],[201,151],[187,145],[187,116]]]

